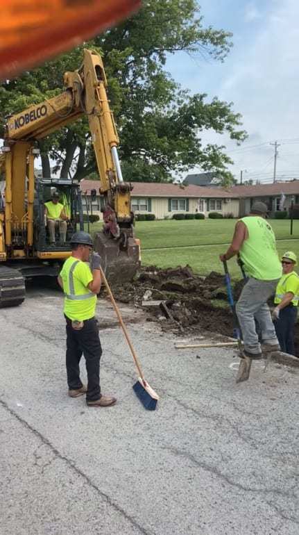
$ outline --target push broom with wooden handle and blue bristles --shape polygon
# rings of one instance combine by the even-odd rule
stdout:
[[[126,329],[126,325],[123,323],[123,318],[121,318],[121,313],[119,311],[119,307],[117,306],[117,304],[115,302],[115,299],[113,297],[112,291],[111,291],[110,286],[108,284],[108,281],[107,281],[107,279],[105,277],[105,273],[103,272],[102,268],[100,268],[100,270],[101,270],[101,277],[103,279],[105,287],[108,290],[108,293],[109,293],[109,296],[110,296],[114,311],[117,314],[117,318],[119,320],[119,323],[121,324],[121,329],[123,329],[123,334],[126,337],[126,340],[128,342],[128,346],[130,347],[130,350],[131,350],[131,353],[133,355],[133,359],[134,359],[136,368],[137,368],[138,373],[139,373],[138,381],[137,381],[137,383],[135,383],[133,385],[133,390],[134,390],[135,394],[137,395],[137,397],[139,398],[139,400],[142,402],[142,404],[143,404],[145,409],[148,409],[148,411],[155,411],[155,408],[157,406],[157,402],[159,400],[159,396],[157,395],[155,390],[153,390],[153,388],[151,388],[151,386],[148,384],[148,382],[144,378],[144,374],[142,372],[142,368],[140,366],[139,360],[137,359],[137,354],[135,353],[135,349],[134,349],[134,347],[133,347],[133,345],[131,343],[130,336],[129,336],[128,331]]]

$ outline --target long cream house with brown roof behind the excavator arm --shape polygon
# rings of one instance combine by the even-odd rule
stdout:
[[[101,214],[103,198],[99,195],[100,181],[80,181],[83,193],[83,209],[88,206],[89,213]],[[96,190],[96,196],[91,197],[91,191]],[[156,219],[171,218],[174,213],[201,212],[207,216],[210,212],[220,212],[223,215],[232,213],[239,215],[239,199],[230,191],[221,188],[207,188],[200,186],[185,186],[184,184],[134,182],[132,209],[135,213],[153,213]]]

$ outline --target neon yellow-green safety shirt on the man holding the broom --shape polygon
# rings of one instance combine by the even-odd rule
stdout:
[[[70,320],[84,321],[94,318],[96,295],[87,288],[92,281],[89,264],[69,256],[60,271],[65,293],[64,313]]]

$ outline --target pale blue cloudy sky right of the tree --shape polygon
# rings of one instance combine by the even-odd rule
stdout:
[[[191,93],[206,92],[233,102],[243,116],[247,140],[241,146],[228,135],[208,132],[205,142],[227,147],[230,170],[239,180],[273,182],[299,179],[299,1],[200,0],[203,25],[233,33],[224,63],[199,54],[170,56],[166,69]],[[195,168],[191,172],[200,172]]]

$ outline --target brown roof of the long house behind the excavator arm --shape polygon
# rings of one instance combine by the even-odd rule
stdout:
[[[161,182],[133,182],[132,197],[217,197],[230,198],[237,197],[229,190],[221,188],[206,188],[201,186],[193,186],[191,184],[173,184]],[[98,180],[81,180],[80,188],[82,191],[90,192],[95,189],[99,192],[101,182]]]

